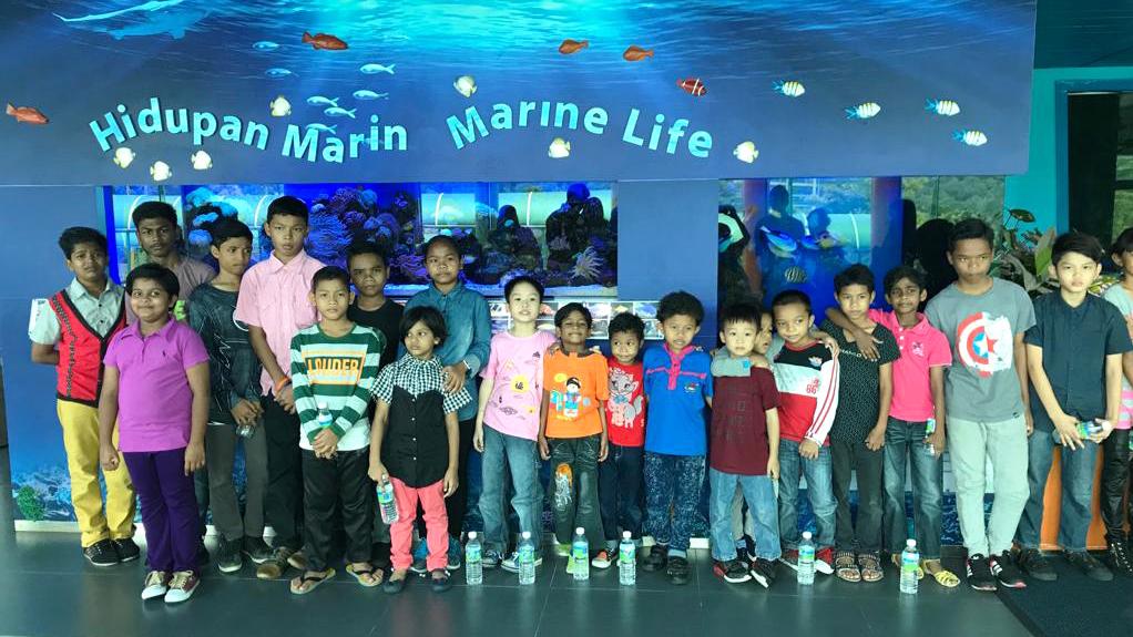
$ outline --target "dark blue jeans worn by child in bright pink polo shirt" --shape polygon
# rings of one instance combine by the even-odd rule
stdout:
[[[905,466],[913,479],[913,528],[917,549],[926,560],[940,559],[940,511],[944,502],[944,460],[925,444],[925,422],[889,419],[885,430],[885,528],[888,549],[905,548]],[[944,449],[939,449],[942,453]]]

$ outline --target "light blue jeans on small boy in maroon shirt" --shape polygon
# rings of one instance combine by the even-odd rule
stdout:
[[[712,557],[719,561],[735,559],[735,537],[732,535],[732,499],[735,485],[743,490],[751,517],[756,523],[756,557],[774,561],[782,554],[778,539],[778,508],[775,487],[767,475],[739,475],[708,470],[712,500],[708,515],[712,520]]]

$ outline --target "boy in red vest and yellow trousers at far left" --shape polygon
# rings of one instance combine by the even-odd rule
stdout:
[[[107,238],[91,227],[68,227],[59,235],[67,287],[32,308],[27,336],[32,362],[53,365],[56,412],[63,430],[71,503],[82,532],[83,556],[94,566],[136,560],[134,488],[125,471],[105,473],[103,513],[99,488],[99,394],[102,356],[111,338],[126,327],[122,287],[107,277]]]

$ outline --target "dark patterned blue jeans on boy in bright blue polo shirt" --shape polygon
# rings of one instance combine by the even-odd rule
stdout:
[[[645,453],[646,533],[672,557],[684,557],[700,518],[704,456]]]

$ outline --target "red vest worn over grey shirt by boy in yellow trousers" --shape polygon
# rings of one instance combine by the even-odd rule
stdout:
[[[105,336],[99,336],[87,325],[66,290],[51,298],[51,309],[59,319],[60,333],[56,395],[61,401],[96,406],[102,391],[102,358],[107,354],[110,339],[126,327],[125,301],[118,308],[118,318]]]

